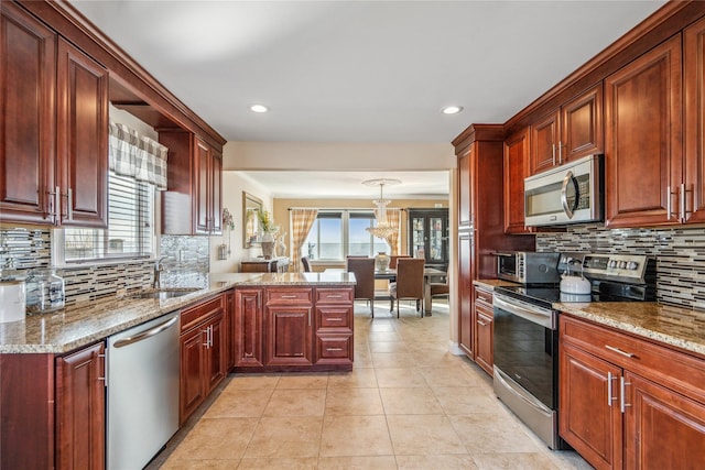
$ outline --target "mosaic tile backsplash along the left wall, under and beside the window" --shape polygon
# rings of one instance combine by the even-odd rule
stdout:
[[[50,229],[0,229],[0,267],[21,271],[51,266]],[[206,287],[209,271],[207,237],[161,239],[163,286]],[[154,262],[133,260],[105,265],[77,265],[56,270],[66,288],[66,304],[115,295],[121,289],[148,287]]]

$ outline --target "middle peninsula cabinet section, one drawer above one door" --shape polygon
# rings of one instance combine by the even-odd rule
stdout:
[[[265,291],[267,367],[313,365],[313,288]]]

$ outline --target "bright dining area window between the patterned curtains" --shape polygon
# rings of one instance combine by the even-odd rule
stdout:
[[[389,252],[384,240],[367,228],[375,227],[375,214],[364,210],[319,210],[303,247],[311,260],[343,261],[348,254],[373,256]]]

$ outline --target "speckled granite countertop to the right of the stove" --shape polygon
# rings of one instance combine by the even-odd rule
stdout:
[[[553,308],[705,356],[705,313],[653,302],[553,304]]]

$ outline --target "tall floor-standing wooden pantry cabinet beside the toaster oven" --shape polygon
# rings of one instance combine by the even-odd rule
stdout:
[[[534,237],[505,232],[502,125],[473,124],[454,141],[458,160],[458,347],[471,359],[476,341],[473,281],[497,277],[495,252],[534,250]],[[523,190],[523,186],[522,186]],[[464,225],[463,221],[467,223]]]

